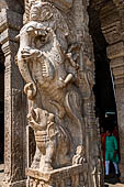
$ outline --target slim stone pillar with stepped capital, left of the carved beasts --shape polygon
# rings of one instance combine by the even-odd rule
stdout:
[[[0,43],[4,53],[4,180],[7,187],[25,186],[25,100],[23,80],[15,65],[19,44],[15,36],[22,14],[8,9],[0,12]],[[23,103],[23,105],[22,105]]]

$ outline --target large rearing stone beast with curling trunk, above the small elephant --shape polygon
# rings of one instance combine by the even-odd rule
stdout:
[[[18,65],[26,81],[24,92],[29,100],[33,100],[36,108],[54,113],[58,124],[66,123],[64,129],[67,125],[76,148],[83,142],[84,124],[81,94],[74,84],[79,65],[72,59],[71,50],[68,51],[68,25],[58,9],[49,2],[35,2],[29,23],[20,32]],[[74,119],[72,128],[80,132],[78,136],[65,118]]]

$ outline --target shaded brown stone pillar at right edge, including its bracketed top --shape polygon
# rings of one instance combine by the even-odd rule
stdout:
[[[114,0],[113,3],[114,12],[110,10],[108,18],[101,19],[102,31],[109,43],[108,46],[108,57],[111,59],[110,67],[114,75],[115,81],[115,101],[117,109],[117,123],[120,130],[120,151],[121,151],[121,162],[120,172],[121,179],[124,182],[124,20],[122,14],[124,14],[124,3]],[[115,7],[116,6],[116,7]],[[112,7],[111,7],[112,8]],[[101,13],[102,14],[102,13]],[[109,16],[109,14],[111,14]],[[105,13],[104,13],[105,15]],[[108,21],[106,21],[108,19]]]

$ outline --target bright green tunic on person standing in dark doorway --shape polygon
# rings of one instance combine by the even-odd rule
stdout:
[[[117,141],[114,135],[105,138],[105,161],[112,161],[119,163],[119,155],[114,156],[114,152],[117,151]]]

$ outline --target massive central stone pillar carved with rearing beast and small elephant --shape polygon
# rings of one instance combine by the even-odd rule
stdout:
[[[35,178],[34,169],[40,175],[58,169],[61,175],[60,169],[69,173],[72,167],[72,176],[77,170],[72,165],[78,164],[82,165],[87,186],[103,185],[87,7],[88,1],[77,0],[25,2],[16,63],[26,82],[27,121],[36,142],[34,160],[26,173],[30,186],[60,185],[56,177],[53,185],[50,178],[49,182]],[[87,172],[84,163],[89,165]],[[70,186],[74,180],[75,177]],[[84,183],[78,180],[74,186],[86,186]]]

